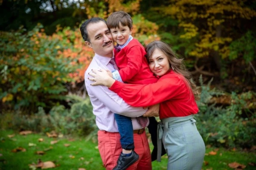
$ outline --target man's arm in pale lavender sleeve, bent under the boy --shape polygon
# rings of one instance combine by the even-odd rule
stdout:
[[[85,85],[88,94],[91,97],[96,97],[102,102],[110,111],[113,113],[121,114],[128,117],[138,117],[143,115],[147,110],[142,107],[132,107],[128,105],[121,97],[119,97],[116,93],[109,90],[107,87],[98,85],[91,86],[93,83],[89,79],[87,79],[88,75],[85,75]]]

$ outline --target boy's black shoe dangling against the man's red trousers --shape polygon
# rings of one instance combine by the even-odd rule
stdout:
[[[131,156],[126,156],[125,154],[121,153],[118,160],[117,165],[113,168],[113,170],[125,170],[132,164],[134,164],[139,159],[139,155],[131,151]]]

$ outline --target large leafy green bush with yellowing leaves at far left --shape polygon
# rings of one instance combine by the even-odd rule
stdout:
[[[76,59],[62,57],[60,52],[70,46],[47,36],[41,25],[25,31],[0,31],[0,102],[29,114],[39,106],[50,109],[64,98]]]

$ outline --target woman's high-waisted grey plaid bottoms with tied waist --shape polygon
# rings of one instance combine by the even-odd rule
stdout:
[[[170,117],[160,122],[158,137],[168,155],[167,170],[201,170],[205,145],[195,122],[194,115]]]

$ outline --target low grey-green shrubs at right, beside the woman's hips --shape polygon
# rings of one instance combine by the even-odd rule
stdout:
[[[241,117],[247,112],[245,99],[251,99],[255,93],[248,92],[241,95],[232,93],[231,104],[227,107],[217,107],[210,104],[213,96],[227,95],[224,92],[210,89],[210,83],[203,85],[202,77],[199,79],[202,93],[198,101],[200,112],[196,116],[197,126],[206,144],[223,147],[251,147],[256,144],[256,128],[253,126],[256,115],[247,118]]]

